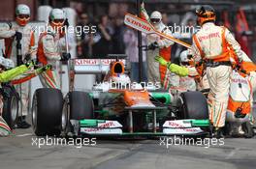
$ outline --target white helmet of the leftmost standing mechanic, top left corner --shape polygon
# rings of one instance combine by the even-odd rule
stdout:
[[[30,19],[30,9],[25,4],[16,6],[16,23],[20,26],[25,26]]]

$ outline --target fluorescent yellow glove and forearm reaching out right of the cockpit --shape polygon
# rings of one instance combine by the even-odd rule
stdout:
[[[155,61],[159,62],[159,64],[166,66],[168,70],[171,72],[175,73],[176,75],[179,76],[187,76],[188,75],[188,69],[186,67],[180,67],[176,64],[173,64],[171,62],[167,62],[164,58],[161,56],[156,56]]]

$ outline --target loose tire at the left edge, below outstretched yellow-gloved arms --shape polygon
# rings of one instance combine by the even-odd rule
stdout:
[[[13,87],[4,87],[6,95],[3,97],[2,116],[9,127],[12,129],[16,126],[18,116],[18,94]]]

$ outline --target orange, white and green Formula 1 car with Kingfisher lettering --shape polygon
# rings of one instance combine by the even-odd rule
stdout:
[[[208,103],[201,92],[164,91],[131,82],[125,60],[70,60],[70,92],[37,89],[32,104],[36,135],[160,136],[208,133]],[[91,91],[74,90],[77,73],[106,73]]]

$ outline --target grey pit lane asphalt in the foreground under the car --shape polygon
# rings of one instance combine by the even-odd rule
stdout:
[[[96,140],[95,146],[32,146],[32,129],[0,138],[1,169],[255,169],[256,138],[226,138],[224,146],[160,146],[160,140]]]

